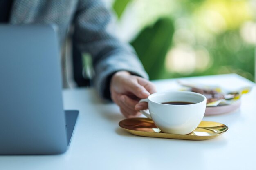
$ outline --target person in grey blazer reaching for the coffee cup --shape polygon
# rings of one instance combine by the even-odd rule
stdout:
[[[73,26],[72,40],[92,56],[99,95],[125,117],[138,116],[147,108],[139,99],[156,91],[134,50],[111,33],[110,11],[101,0],[0,0],[0,23],[55,24],[61,47]]]

